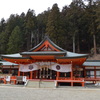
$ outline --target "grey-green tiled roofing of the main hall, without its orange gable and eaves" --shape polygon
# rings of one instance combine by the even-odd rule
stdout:
[[[37,52],[32,52],[35,49],[37,49],[40,45],[42,45],[46,40],[49,41],[49,43],[54,46],[56,49],[59,51],[37,51]],[[17,54],[10,54],[10,55],[2,55],[3,58],[11,58],[11,59],[30,59],[29,57],[22,57],[22,55],[64,55],[63,57],[56,57],[57,59],[72,59],[72,58],[82,58],[82,57],[87,57],[87,54],[78,54],[78,53],[73,53],[66,51],[59,46],[57,46],[54,42],[52,42],[48,37],[45,37],[42,42],[40,42],[37,46],[29,50],[28,52],[21,52]]]

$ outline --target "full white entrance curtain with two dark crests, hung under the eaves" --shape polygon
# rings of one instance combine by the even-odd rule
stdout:
[[[57,63],[50,63],[50,62],[38,62],[33,64],[20,64],[19,71],[20,72],[30,72],[34,70],[38,70],[44,67],[48,67],[51,70],[58,71],[58,72],[71,72],[72,64],[57,64]]]

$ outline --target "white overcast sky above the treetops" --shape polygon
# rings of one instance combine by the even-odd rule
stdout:
[[[28,9],[35,10],[35,14],[39,14],[48,7],[52,8],[54,3],[62,9],[65,5],[69,5],[72,0],[0,0],[0,20],[7,19],[11,14],[20,15],[26,13]]]

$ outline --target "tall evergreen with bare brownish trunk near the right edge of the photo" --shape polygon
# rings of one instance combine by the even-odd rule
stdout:
[[[97,24],[96,24],[96,3],[93,0],[89,0],[89,5],[86,9],[88,15],[88,22],[89,22],[89,29],[88,33],[93,36],[93,48],[94,48],[94,55],[97,54],[96,51],[96,35],[97,35]]]

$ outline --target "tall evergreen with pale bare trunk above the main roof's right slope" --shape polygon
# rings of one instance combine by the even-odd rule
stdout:
[[[80,34],[81,30],[81,21],[83,17],[84,3],[81,0],[75,0],[71,3],[69,11],[67,13],[67,19],[69,24],[69,33],[72,35],[73,40],[73,52],[76,50],[76,46],[78,48],[78,52],[80,52]],[[80,27],[81,26],[81,27]],[[77,45],[76,45],[77,39]]]

